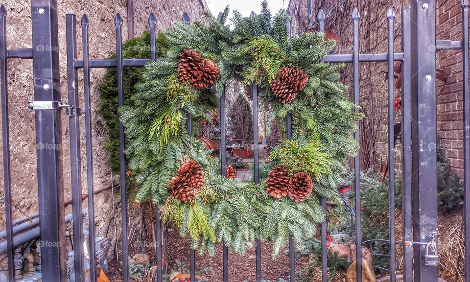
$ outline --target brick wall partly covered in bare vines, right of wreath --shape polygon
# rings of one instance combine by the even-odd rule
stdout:
[[[291,0],[289,8],[299,11],[305,0]],[[315,15],[320,8],[327,14],[325,27],[335,32],[340,37],[337,53],[352,53],[352,20],[353,7],[358,7],[361,13],[360,19],[360,52],[380,53],[386,52],[387,44],[387,19],[385,11],[390,6],[385,0],[356,0],[346,1],[342,9],[335,8],[338,1],[324,0],[312,1],[312,14]],[[409,1],[395,1],[395,51],[401,50],[401,7],[409,5]],[[307,13],[307,12],[305,12]],[[460,40],[461,39],[461,7],[460,1],[437,1],[437,39]],[[294,15],[294,14],[293,14]],[[293,32],[299,26],[305,26],[305,17],[292,17]],[[302,22],[301,22],[302,21]],[[296,29],[297,28],[297,29]],[[350,86],[348,94],[352,94],[352,70],[349,64],[343,71],[343,81]],[[462,121],[462,56],[458,50],[439,51],[437,53],[437,68],[447,72],[447,85],[438,81],[437,110],[438,110],[438,138],[441,147],[450,161],[452,173],[463,176],[463,121]],[[366,119],[362,122],[360,132],[361,148],[367,148],[361,152],[362,166],[374,166],[379,168],[388,161],[388,134],[387,134],[387,65],[385,63],[362,63],[360,96],[363,112]],[[444,87],[444,88],[443,88]],[[440,94],[440,92],[442,93]],[[396,91],[395,95],[399,95]],[[400,112],[395,122],[400,121]],[[367,138],[367,136],[370,136]],[[373,143],[373,148],[367,146]],[[396,164],[400,169],[401,145],[397,142]],[[368,164],[364,160],[374,156]]]

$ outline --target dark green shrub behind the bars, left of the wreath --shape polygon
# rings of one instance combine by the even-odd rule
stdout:
[[[169,42],[163,33],[155,37],[157,58],[166,57]],[[122,44],[122,55],[125,59],[150,58],[150,32],[144,31],[141,37],[135,37]],[[113,54],[109,59],[116,59]],[[141,81],[141,68],[124,68],[123,90],[124,104],[132,106],[132,95],[137,93],[136,85]],[[98,115],[103,119],[106,133],[104,148],[109,154],[109,165],[113,172],[119,172],[119,120],[118,120],[118,71],[109,69],[98,87],[100,105]]]

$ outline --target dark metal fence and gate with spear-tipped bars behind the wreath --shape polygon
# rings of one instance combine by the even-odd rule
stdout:
[[[463,100],[464,100],[464,169],[465,169],[465,198],[470,199],[470,97],[469,97],[469,14],[468,0],[462,0],[462,40],[436,41],[435,29],[435,1],[414,0],[411,7],[401,9],[402,48],[394,52],[394,18],[392,8],[386,11],[388,18],[388,51],[387,53],[364,54],[359,52],[359,11],[354,9],[353,20],[353,52],[352,54],[329,54],[325,62],[351,63],[353,65],[353,102],[359,103],[359,65],[362,62],[386,62],[388,64],[388,135],[390,144],[394,143],[394,62],[402,63],[402,195],[403,195],[403,256],[405,282],[437,282],[438,268],[426,260],[427,245],[437,242],[437,125],[436,125],[436,50],[461,49],[463,54]],[[43,244],[41,247],[41,264],[43,281],[67,281],[67,251],[65,249],[64,233],[64,187],[62,171],[62,132],[61,115],[59,110],[65,108],[70,122],[71,143],[71,191],[73,211],[73,238],[74,238],[74,278],[75,281],[84,279],[84,250],[83,250],[83,219],[81,195],[81,156],[80,156],[80,130],[79,118],[85,116],[86,124],[86,163],[88,187],[88,216],[90,225],[94,226],[93,201],[93,155],[91,138],[91,92],[90,70],[92,68],[117,68],[118,71],[118,99],[123,105],[123,69],[127,67],[143,67],[149,60],[157,60],[155,53],[155,24],[156,18],[150,14],[148,23],[151,34],[151,58],[123,59],[121,26],[119,15],[115,18],[116,27],[116,53],[117,59],[90,59],[88,44],[89,21],[84,15],[81,20],[83,58],[77,57],[76,17],[73,14],[66,16],[67,24],[67,66],[68,66],[68,104],[62,104],[65,98],[60,93],[59,76],[59,44],[58,15],[56,0],[32,0],[32,48],[7,49],[6,8],[0,7],[0,89],[1,89],[1,118],[2,143],[4,165],[4,190],[6,207],[6,242],[0,243],[0,248],[8,254],[8,277],[15,281],[15,248],[22,244],[21,238],[15,237],[15,227],[12,219],[11,181],[10,181],[10,147],[8,122],[8,59],[32,59],[34,74],[34,98],[29,107],[35,111],[36,143],[50,144],[45,148],[37,149],[37,171],[39,192],[39,228],[41,242],[57,242],[58,244]],[[317,20],[319,30],[324,30],[325,14],[319,11]],[[185,14],[184,21],[189,23]],[[49,48],[39,49],[39,46]],[[77,71],[82,69],[85,109],[77,108],[79,104]],[[257,87],[253,86],[254,124],[257,124]],[[26,101],[25,101],[26,104]],[[221,97],[221,116],[225,116],[225,95]],[[190,116],[188,117],[188,121]],[[291,135],[292,116],[287,116],[288,137]],[[188,129],[191,127],[189,126]],[[221,123],[222,136],[225,135],[225,125]],[[119,126],[120,141],[120,190],[121,203],[126,203],[126,168],[124,156],[124,129]],[[254,126],[254,140],[258,140],[258,130]],[[355,133],[359,141],[359,131]],[[225,142],[221,144],[222,173],[225,172]],[[258,144],[254,146],[255,181],[258,182]],[[390,199],[394,198],[394,148],[389,146],[390,167]],[[359,157],[354,164],[355,207],[360,207],[360,171]],[[325,208],[325,199],[321,201]],[[390,226],[395,226],[394,201],[389,201]],[[127,222],[127,207],[121,205],[122,222]],[[355,234],[357,241],[361,241],[360,209],[355,209]],[[469,217],[470,201],[465,202],[465,217]],[[157,235],[157,280],[162,281],[161,264],[161,223],[156,214]],[[465,222],[465,234],[470,235],[470,225]],[[128,249],[127,225],[122,224],[122,251],[124,281],[128,281]],[[39,229],[36,231],[39,232]],[[322,239],[322,281],[327,281],[327,239],[326,223],[321,226]],[[90,229],[91,258],[94,258],[94,229]],[[290,240],[290,281],[295,281],[294,272],[294,244]],[[261,281],[260,242],[256,242],[256,274],[257,282]],[[390,231],[390,273],[391,281],[395,281],[395,229]],[[470,257],[470,240],[465,239],[465,257]],[[357,282],[362,281],[361,252],[357,256]],[[223,249],[223,281],[229,281],[228,250]],[[90,261],[91,278],[96,280],[95,260]],[[195,254],[190,253],[190,276],[195,281]],[[470,282],[470,259],[465,261],[465,281]]]

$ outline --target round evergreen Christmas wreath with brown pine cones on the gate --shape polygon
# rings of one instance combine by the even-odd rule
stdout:
[[[341,205],[336,187],[359,149],[352,134],[362,115],[338,81],[343,65],[322,63],[335,42],[319,32],[288,37],[288,13],[273,17],[266,2],[249,18],[235,11],[232,29],[228,8],[218,18],[205,13],[206,24],[165,31],[169,60],[145,66],[132,106],[121,110],[129,168],[141,185],[136,200],[153,200],[162,221],[200,252],[214,254],[223,242],[243,254],[260,239],[274,242],[275,258],[290,236],[303,249],[325,220],[320,196]],[[235,180],[232,167],[221,176],[220,159],[188,136],[187,115],[195,129],[198,120],[212,122],[209,113],[234,77],[258,85],[268,122],[285,132],[286,115],[293,116],[292,139],[273,148],[260,184]]]

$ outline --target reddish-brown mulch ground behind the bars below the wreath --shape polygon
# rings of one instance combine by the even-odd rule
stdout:
[[[189,263],[189,244],[188,241],[179,237],[177,233],[167,232],[165,235],[165,262],[169,268],[175,268],[175,260],[181,261],[182,259]],[[130,244],[133,245],[133,244]],[[131,255],[138,253],[137,248],[130,246],[129,253]],[[285,249],[283,250],[285,251]],[[154,259],[153,251],[151,249],[144,250],[150,255],[151,260]],[[279,278],[289,278],[289,257],[288,255],[280,255],[275,261],[271,259],[272,244],[261,243],[261,273],[263,280],[278,281]],[[256,281],[256,255],[255,249],[248,250],[245,256],[241,257],[237,254],[229,255],[229,281],[230,282],[248,282]],[[295,270],[302,269],[307,263],[308,258],[302,257],[296,260]],[[210,282],[218,282],[223,280],[223,266],[222,266],[222,246],[217,246],[217,252],[214,257],[204,255],[198,256],[196,254],[196,271],[206,266],[211,266],[214,274],[209,278]],[[111,282],[122,281],[122,266],[116,259],[109,262],[108,278]],[[297,279],[296,279],[297,280]]]

